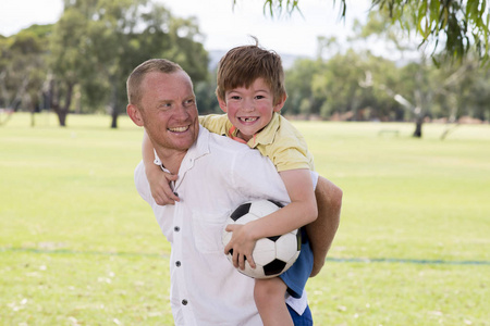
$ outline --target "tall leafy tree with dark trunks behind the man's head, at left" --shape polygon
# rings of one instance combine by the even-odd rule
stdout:
[[[107,104],[111,127],[126,103],[125,80],[150,58],[177,61],[195,80],[207,76],[207,52],[193,20],[174,18],[148,0],[65,0],[52,39],[53,110],[64,125],[73,90],[96,106]],[[63,96],[62,96],[63,95]]]

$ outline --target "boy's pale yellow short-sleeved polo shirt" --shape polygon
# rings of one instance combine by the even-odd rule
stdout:
[[[199,123],[209,131],[226,137],[236,137],[237,130],[230,134],[233,125],[226,114],[199,116]],[[274,163],[278,172],[309,168],[315,170],[311,153],[305,138],[281,114],[274,112],[270,123],[255,134],[247,142],[248,147],[258,149],[264,156]]]

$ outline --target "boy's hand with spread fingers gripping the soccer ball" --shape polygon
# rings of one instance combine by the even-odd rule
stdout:
[[[226,230],[232,233],[230,242],[224,247],[224,253],[233,252],[233,265],[245,269],[245,261],[252,268],[255,268],[254,258],[252,252],[255,248],[255,242],[250,235],[250,225],[226,225]]]

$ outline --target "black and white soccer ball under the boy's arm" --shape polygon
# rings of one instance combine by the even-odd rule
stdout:
[[[270,200],[248,201],[241,204],[230,215],[228,224],[246,224],[250,221],[269,215],[279,209],[282,204]],[[232,238],[232,233],[223,229],[222,241],[226,246]],[[297,229],[289,234],[269,238],[259,239],[255,243],[252,255],[256,264],[252,268],[245,261],[245,269],[237,268],[242,274],[254,278],[270,278],[284,273],[290,268],[299,255],[302,246],[302,234]],[[233,250],[226,254],[230,262],[233,263]]]

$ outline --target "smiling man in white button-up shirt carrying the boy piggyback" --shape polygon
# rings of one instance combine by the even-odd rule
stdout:
[[[289,202],[275,167],[258,151],[199,126],[191,78],[175,63],[143,63],[127,80],[127,95],[130,117],[145,127],[162,168],[177,175],[172,186],[181,200],[160,206],[151,197],[143,163],[135,171],[138,192],[172,244],[170,300],[175,325],[261,325],[254,280],[226,260],[221,233],[229,213],[244,201]],[[317,176],[311,177],[316,184]],[[323,188],[340,195],[332,205],[336,215],[327,222],[328,246],[339,222],[336,189],[331,184]],[[311,325],[305,294],[286,302],[295,324]]]

